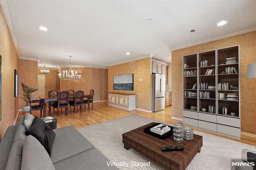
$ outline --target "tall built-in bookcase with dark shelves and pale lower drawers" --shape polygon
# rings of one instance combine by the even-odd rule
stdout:
[[[183,56],[184,125],[240,138],[239,71],[238,45]]]

